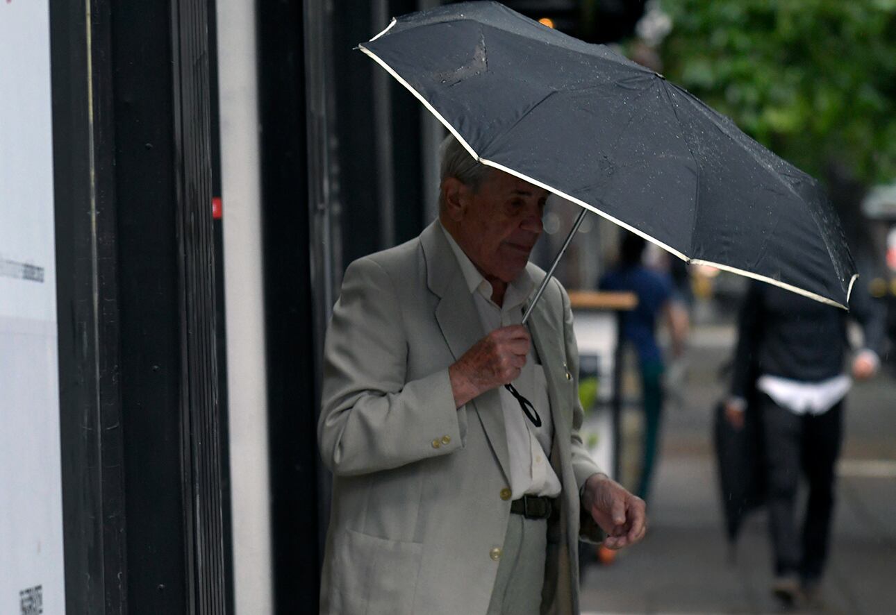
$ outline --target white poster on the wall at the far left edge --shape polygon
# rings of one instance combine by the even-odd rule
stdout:
[[[47,2],[0,2],[0,613],[65,612]]]

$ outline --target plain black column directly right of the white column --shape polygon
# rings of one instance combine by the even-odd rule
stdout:
[[[313,1],[313,0],[308,0]],[[256,3],[274,602],[317,611],[320,578],[303,3]]]

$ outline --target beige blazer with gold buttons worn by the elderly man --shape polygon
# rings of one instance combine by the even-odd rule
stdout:
[[[536,284],[544,271],[529,265]],[[578,613],[579,490],[599,472],[578,428],[578,353],[569,298],[552,281],[530,317],[563,484],[548,527],[542,611]],[[321,612],[485,613],[510,516],[497,389],[455,409],[448,366],[486,331],[435,224],[353,262],[324,347],[318,441],[333,477]],[[582,519],[580,519],[582,516]]]

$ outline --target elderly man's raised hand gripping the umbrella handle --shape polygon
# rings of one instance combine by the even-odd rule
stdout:
[[[495,329],[480,339],[448,368],[455,405],[513,382],[526,364],[529,346],[529,331],[522,325]]]

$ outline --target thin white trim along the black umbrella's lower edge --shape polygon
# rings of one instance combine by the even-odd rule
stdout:
[[[383,36],[383,34],[385,34],[390,28],[392,28],[393,25],[395,25],[394,19],[392,20],[392,23],[390,23],[389,26],[385,30],[383,30],[382,32],[377,34],[374,38],[371,38],[371,41],[374,41],[377,38],[380,38],[381,36]],[[495,167],[496,169],[504,171],[504,173],[509,173],[510,175],[514,175],[526,182],[529,182],[530,184],[537,185],[541,188],[544,188],[548,192],[553,192],[557,196],[565,199],[566,201],[572,201],[573,203],[575,203],[576,205],[579,205],[580,207],[589,209],[590,211],[593,211],[594,213],[598,214],[599,216],[601,216],[603,218],[607,218],[607,220],[609,220],[610,222],[613,222],[614,224],[616,224],[618,226],[622,226],[623,228],[631,231],[635,235],[642,236],[644,239],[646,239],[650,243],[654,243],[654,244],[658,245],[660,248],[662,248],[666,252],[676,255],[679,259],[681,259],[682,261],[685,261],[688,264],[707,265],[709,267],[714,267],[715,269],[722,269],[724,271],[730,271],[731,273],[736,273],[737,275],[744,276],[745,278],[753,278],[756,280],[760,280],[762,282],[767,282],[771,285],[780,286],[780,288],[784,288],[793,293],[797,293],[797,295],[803,295],[805,297],[808,297],[809,299],[814,299],[815,301],[818,301],[821,303],[833,305],[834,307],[839,307],[839,308],[849,312],[849,308],[846,305],[843,305],[842,303],[837,303],[833,299],[828,299],[827,297],[818,295],[817,293],[813,293],[812,291],[808,291],[805,288],[800,288],[799,286],[793,286],[792,284],[788,284],[786,282],[781,282],[780,280],[777,280],[774,278],[769,278],[768,276],[762,276],[761,274],[754,273],[752,271],[747,271],[746,269],[737,269],[737,267],[731,267],[730,265],[723,265],[719,262],[703,261],[702,259],[692,259],[684,252],[680,252],[680,251],[676,250],[675,248],[673,248],[672,246],[668,245],[667,243],[663,243],[663,242],[659,241],[659,239],[657,239],[656,237],[651,237],[650,235],[647,235],[643,231],[635,228],[634,226],[626,224],[619,218],[615,218],[615,217],[611,216],[606,211],[601,211],[600,209],[594,207],[590,203],[586,203],[585,201],[582,201],[581,199],[576,199],[575,197],[573,197],[569,194],[566,194],[562,190],[558,190],[553,186],[545,184],[544,182],[539,182],[537,179],[534,179],[533,177],[530,177],[529,175],[524,175],[524,174],[520,173],[519,171],[514,171],[512,168],[504,167],[504,165],[502,165],[500,163],[494,162],[492,160],[487,160],[486,158],[481,158],[476,153],[476,151],[470,147],[470,143],[468,143],[467,141],[464,140],[463,137],[461,137],[461,133],[457,132],[457,130],[448,122],[448,120],[446,120],[444,118],[444,116],[442,114],[440,114],[438,111],[436,111],[435,107],[433,107],[429,103],[429,101],[426,100],[426,98],[424,98],[422,94],[420,94],[420,92],[415,90],[414,87],[408,83],[408,81],[405,81],[399,73],[396,73],[394,71],[394,69],[392,69],[392,66],[390,66],[389,64],[386,64],[383,61],[383,59],[380,58],[380,56],[377,56],[374,52],[372,52],[370,49],[367,49],[363,45],[358,45],[358,48],[361,51],[363,51],[367,56],[370,56],[371,58],[373,58],[376,61],[376,63],[379,64],[380,66],[382,66],[383,69],[387,73],[391,74],[392,77],[394,77],[396,81],[401,83],[401,85],[403,85],[405,88],[407,88],[411,94],[413,94],[415,97],[417,97],[417,99],[423,104],[424,107],[426,107],[426,109],[429,111],[429,113],[435,115],[435,119],[437,119],[439,122],[444,124],[444,127],[447,128],[448,131],[452,133],[452,135],[454,135],[454,138],[457,139],[458,141],[460,141],[460,143],[464,147],[464,149],[466,149],[468,152],[470,152],[470,156],[472,156],[473,158],[476,158],[483,165],[487,165],[488,167]],[[853,284],[856,283],[857,278],[858,278],[858,274],[856,273],[856,274],[853,274],[852,278],[849,280],[849,290],[847,290],[847,294],[846,294],[847,303],[849,303],[849,295],[852,294],[852,286],[853,286]]]

